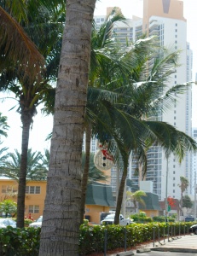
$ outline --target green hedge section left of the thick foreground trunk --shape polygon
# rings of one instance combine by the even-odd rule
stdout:
[[[0,255],[38,256],[40,229],[0,229]]]

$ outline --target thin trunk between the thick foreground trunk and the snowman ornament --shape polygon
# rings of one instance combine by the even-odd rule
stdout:
[[[85,163],[84,163],[84,172],[83,172],[82,183],[81,183],[80,224],[84,223],[85,195],[87,190],[89,166],[90,166],[90,143],[91,143],[91,128],[90,128],[90,125],[87,125],[86,133],[85,133]]]

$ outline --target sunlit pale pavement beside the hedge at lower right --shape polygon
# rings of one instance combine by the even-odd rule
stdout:
[[[164,241],[155,241],[146,245],[140,245],[135,249],[123,253],[107,253],[107,256],[130,256],[139,255],[142,256],[197,256],[197,236],[175,236]]]

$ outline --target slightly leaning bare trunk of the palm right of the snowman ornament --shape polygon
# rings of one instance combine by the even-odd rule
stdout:
[[[121,205],[122,205],[122,201],[123,201],[125,181],[126,181],[126,177],[127,177],[127,166],[128,165],[124,165],[124,172],[123,172],[120,184],[119,184],[119,195],[118,195],[118,200],[117,200],[114,224],[119,224],[119,214],[120,214]]]

